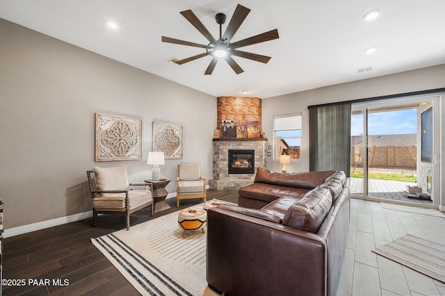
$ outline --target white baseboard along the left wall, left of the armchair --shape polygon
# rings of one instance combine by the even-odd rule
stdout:
[[[79,214],[75,214],[75,215],[70,215],[70,216],[65,216],[65,217],[60,217],[60,218],[51,219],[51,220],[47,220],[47,221],[37,222],[37,223],[33,223],[33,224],[23,225],[23,226],[19,226],[19,227],[13,227],[10,229],[5,229],[5,231],[3,232],[3,238],[9,238],[10,236],[18,236],[19,234],[29,233],[32,231],[38,231],[41,229],[54,227],[54,226],[58,226],[58,225],[62,225],[62,224],[67,224],[70,222],[75,222],[75,221],[83,220],[83,219],[90,218],[90,217],[92,217],[92,211],[88,211],[85,213],[79,213]]]

